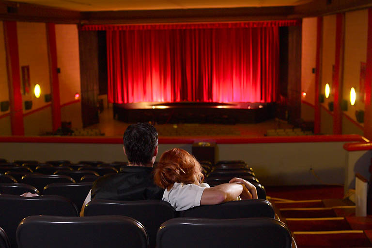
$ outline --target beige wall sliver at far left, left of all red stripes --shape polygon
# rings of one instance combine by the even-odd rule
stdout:
[[[3,30],[3,23],[0,21],[0,101],[8,101],[9,100],[9,90],[8,90],[8,72],[6,67],[6,55],[5,55],[5,44],[4,44],[4,30]],[[0,116],[5,115],[10,112],[10,108],[8,111],[0,112]],[[9,122],[9,123],[8,123]],[[0,119],[0,135],[5,135],[4,130],[1,128],[5,128],[5,126],[10,126],[10,118],[2,118]]]

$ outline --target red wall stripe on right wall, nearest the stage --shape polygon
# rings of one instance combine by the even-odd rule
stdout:
[[[323,41],[323,17],[317,18],[316,27],[316,57],[315,57],[315,112],[314,112],[314,134],[320,133],[321,115],[320,115],[320,84],[321,84],[321,51]]]

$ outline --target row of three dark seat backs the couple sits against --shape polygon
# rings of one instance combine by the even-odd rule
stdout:
[[[24,198],[14,195],[0,195],[0,227],[8,234],[12,247],[16,247],[18,223],[30,215],[78,216],[78,209],[69,199],[60,196]],[[219,205],[205,205],[176,212],[162,200],[115,201],[92,200],[84,210],[85,216],[124,215],[138,220],[147,231],[150,247],[155,247],[158,228],[167,220],[183,218],[274,218],[270,202],[263,199],[226,202]]]

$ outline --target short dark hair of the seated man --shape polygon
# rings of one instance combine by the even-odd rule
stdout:
[[[157,146],[157,132],[153,125],[139,123],[128,126],[124,132],[124,148],[130,163],[150,163]]]

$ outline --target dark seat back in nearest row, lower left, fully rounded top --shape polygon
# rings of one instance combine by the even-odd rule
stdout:
[[[125,216],[30,216],[16,231],[18,248],[147,248],[146,230]]]

